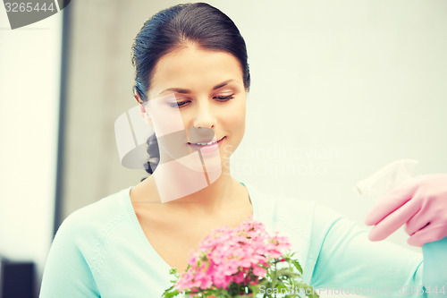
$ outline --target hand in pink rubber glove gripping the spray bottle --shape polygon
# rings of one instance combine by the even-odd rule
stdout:
[[[381,199],[365,218],[369,240],[384,240],[405,224],[408,243],[422,246],[447,236],[447,174],[421,175]]]

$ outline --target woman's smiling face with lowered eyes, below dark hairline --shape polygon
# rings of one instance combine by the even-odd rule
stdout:
[[[159,141],[164,146],[161,154],[192,149],[221,166],[242,140],[246,90],[238,59],[226,52],[192,45],[164,55],[152,75],[148,103],[157,138],[178,136]],[[205,141],[214,143],[204,145]]]

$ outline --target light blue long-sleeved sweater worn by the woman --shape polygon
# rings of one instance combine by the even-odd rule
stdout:
[[[422,254],[387,242],[315,201],[265,195],[250,185],[253,217],[289,237],[304,280],[320,294],[391,297],[426,294]],[[168,288],[169,265],[146,238],[131,205],[131,187],[79,209],[59,227],[46,260],[40,297],[149,297]],[[342,291],[342,292],[340,292]],[[368,294],[369,293],[369,294]]]

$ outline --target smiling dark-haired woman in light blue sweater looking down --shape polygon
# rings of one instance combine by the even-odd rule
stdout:
[[[371,243],[367,231],[314,202],[276,200],[232,178],[229,158],[244,134],[250,77],[245,42],[225,14],[208,4],[173,6],[144,24],[132,50],[134,97],[156,132],[159,162],[149,167],[155,170],[148,179],[63,222],[41,297],[159,297],[170,285],[169,269],[184,270],[188,252],[206,234],[252,215],[290,238],[311,285],[373,296],[422,288],[417,253]],[[445,175],[429,175],[393,192],[394,201],[403,192],[412,198],[405,204],[411,209],[393,207],[401,210],[399,219],[420,217],[425,200],[443,213],[445,182]],[[392,210],[369,217],[370,224],[382,220],[377,239],[397,228],[400,220],[386,217]],[[430,212],[421,214],[434,223]],[[447,220],[436,220],[435,237],[419,245],[447,234]],[[420,225],[413,220],[409,234],[430,226]]]

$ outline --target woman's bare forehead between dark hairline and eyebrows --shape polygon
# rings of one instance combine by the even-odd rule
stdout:
[[[167,88],[208,89],[228,80],[243,83],[240,62],[232,54],[195,46],[182,47],[158,61],[149,92]]]

